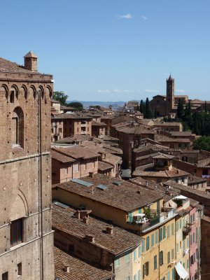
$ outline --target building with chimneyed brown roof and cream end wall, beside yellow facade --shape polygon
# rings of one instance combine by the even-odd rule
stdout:
[[[115,280],[140,276],[141,237],[95,218],[91,209],[74,209],[55,201],[52,228],[57,247],[113,272]]]

